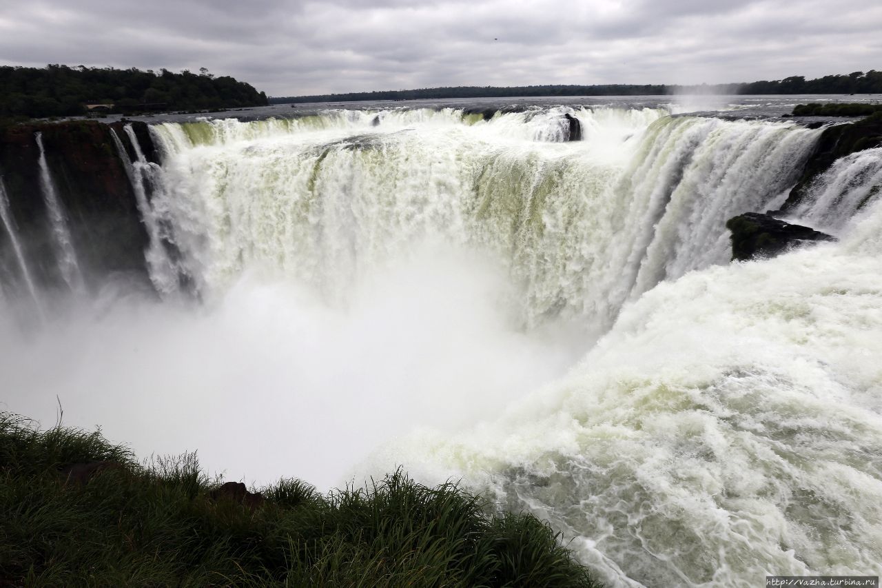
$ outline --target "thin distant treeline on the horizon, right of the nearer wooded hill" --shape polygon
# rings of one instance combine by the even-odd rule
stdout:
[[[274,104],[288,102],[354,102],[361,100],[421,100],[432,98],[502,98],[513,96],[634,96],[662,94],[882,94],[882,72],[852,72],[818,79],[791,76],[773,81],[700,86],[608,84],[602,86],[433,87],[349,94],[274,97]]]

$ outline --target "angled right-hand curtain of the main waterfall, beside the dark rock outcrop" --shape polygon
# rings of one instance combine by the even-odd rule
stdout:
[[[699,124],[678,118],[670,126],[653,138],[659,156],[626,174],[635,200],[647,201],[624,266],[629,274],[636,271],[632,299],[662,280],[729,261],[726,221],[780,207],[819,136],[714,118]]]

